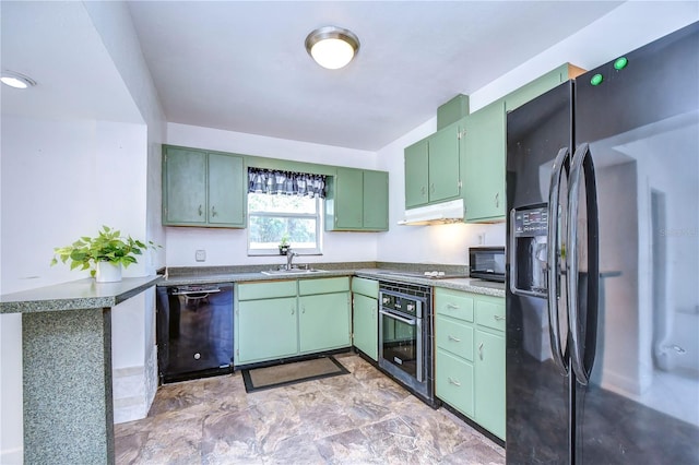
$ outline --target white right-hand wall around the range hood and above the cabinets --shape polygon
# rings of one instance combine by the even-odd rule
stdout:
[[[463,93],[470,94],[473,112],[561,63],[593,69],[698,20],[699,2],[695,1],[626,2],[488,85]],[[436,130],[437,119],[433,118],[378,152],[378,169],[391,174],[391,230],[377,238],[380,261],[464,264],[467,248],[479,245],[483,234],[485,245],[505,245],[505,224],[394,226],[402,217],[405,202],[403,150]]]

